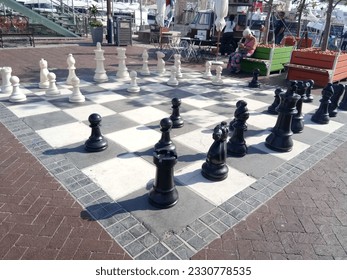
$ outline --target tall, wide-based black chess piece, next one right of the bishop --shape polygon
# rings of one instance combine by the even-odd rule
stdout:
[[[265,145],[271,150],[290,152],[293,148],[291,123],[293,115],[297,113],[296,102],[300,99],[295,91],[296,81],[292,81],[287,91],[280,94],[277,122],[271,134],[265,139]]]

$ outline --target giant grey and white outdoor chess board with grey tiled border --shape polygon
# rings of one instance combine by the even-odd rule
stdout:
[[[304,131],[293,135],[290,152],[265,146],[277,116],[267,113],[275,88],[248,87],[232,77],[216,86],[203,73],[183,71],[178,86],[168,86],[169,74],[138,76],[138,93],[129,93],[129,81],[109,77],[95,83],[80,77],[83,103],[70,103],[72,87],[57,82],[61,95],[47,97],[38,84],[23,84],[27,100],[11,103],[0,94],[0,120],[135,259],[188,259],[226,232],[254,209],[329,154],[346,136],[346,112],[329,124],[311,119],[319,105],[303,104]],[[156,209],[148,192],[156,173],[153,147],[161,138],[159,123],[170,116],[171,100],[181,99],[184,126],[171,130],[178,162],[174,169],[178,203]],[[213,143],[213,128],[230,122],[238,100],[248,104],[250,117],[244,157],[227,158],[228,177],[205,179],[201,166]],[[2,105],[1,105],[2,104]],[[101,132],[108,148],[88,153],[91,134],[88,117],[102,117]],[[14,122],[14,119],[17,122]]]

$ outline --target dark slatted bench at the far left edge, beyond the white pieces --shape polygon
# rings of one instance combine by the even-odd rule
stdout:
[[[20,15],[0,16],[0,46],[4,47],[4,40],[18,41],[26,37],[31,46],[35,47],[34,31],[29,26],[29,18]]]

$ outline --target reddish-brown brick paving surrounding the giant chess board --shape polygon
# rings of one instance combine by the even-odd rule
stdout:
[[[73,53],[79,75],[92,75],[94,49],[88,42],[3,49],[0,67],[11,65],[22,82],[36,83],[40,58],[66,77],[61,58]],[[115,73],[115,47],[104,50],[105,69]],[[127,50],[129,69],[139,67],[141,52]],[[283,85],[283,77],[260,81]],[[0,259],[130,259],[96,221],[81,217],[84,209],[3,124],[0,136]],[[342,143],[192,259],[347,259],[346,153]]]

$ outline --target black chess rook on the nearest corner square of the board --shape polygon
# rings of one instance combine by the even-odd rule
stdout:
[[[156,174],[153,187],[149,192],[149,202],[157,208],[169,208],[178,201],[178,192],[174,181],[174,166],[177,155],[173,151],[154,151],[153,163]]]

